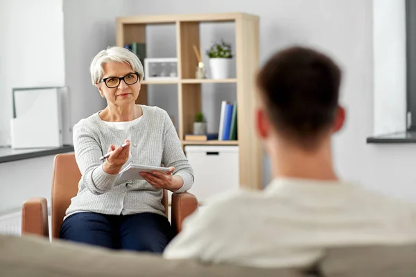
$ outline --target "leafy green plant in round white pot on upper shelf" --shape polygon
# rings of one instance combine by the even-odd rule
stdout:
[[[231,45],[225,43],[223,40],[216,42],[209,48],[207,55],[211,68],[211,78],[229,78],[233,57],[231,50]]]

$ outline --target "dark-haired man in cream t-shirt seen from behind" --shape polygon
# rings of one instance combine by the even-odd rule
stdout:
[[[253,267],[302,267],[324,247],[416,240],[408,204],[337,176],[331,136],[343,127],[338,65],[311,48],[272,55],[257,75],[253,115],[272,163],[263,191],[221,195],[191,215],[165,258]]]

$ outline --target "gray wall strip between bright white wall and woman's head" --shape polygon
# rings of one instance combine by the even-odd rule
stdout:
[[[93,87],[89,63],[115,43],[115,17],[128,15],[132,1],[64,1],[65,83],[71,97],[71,125],[105,107]]]

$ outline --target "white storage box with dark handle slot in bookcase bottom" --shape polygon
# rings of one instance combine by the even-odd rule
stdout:
[[[185,154],[195,177],[189,193],[198,202],[239,188],[239,146],[187,145]]]

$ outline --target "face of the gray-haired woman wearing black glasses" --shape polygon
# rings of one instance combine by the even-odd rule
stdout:
[[[122,106],[135,102],[140,93],[140,81],[137,80],[135,84],[127,84],[135,82],[135,78],[139,76],[134,75],[135,71],[132,70],[130,64],[127,62],[107,62],[103,65],[104,75],[102,79],[107,79],[107,84],[110,87],[114,87],[114,84],[119,82],[117,78],[113,77],[125,77],[125,80],[120,80],[119,84],[114,88],[109,88],[105,82],[98,83],[98,90],[101,96],[104,96],[107,102],[116,106]],[[126,81],[126,82],[125,82]]]

